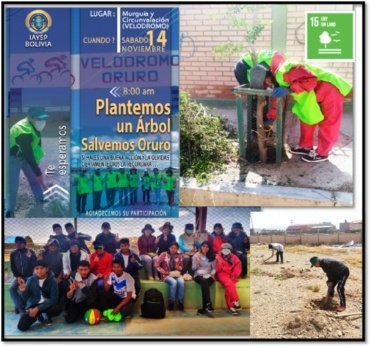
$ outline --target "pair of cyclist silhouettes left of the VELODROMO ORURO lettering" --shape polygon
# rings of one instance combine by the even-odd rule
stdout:
[[[28,76],[30,80],[36,80],[38,84],[41,84],[42,81],[52,81],[57,77],[68,77],[69,76],[69,85],[72,86],[75,83],[75,77],[71,73],[71,70],[67,69],[67,56],[60,55],[58,57],[51,57],[45,61],[44,67],[45,70],[40,71],[39,73],[35,72],[35,67],[33,66],[34,60],[32,58],[22,61],[17,65],[18,75],[13,76],[12,84],[16,85],[25,81],[25,78]]]

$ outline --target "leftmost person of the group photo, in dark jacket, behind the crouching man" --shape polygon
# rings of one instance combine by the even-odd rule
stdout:
[[[36,262],[36,254],[26,248],[26,239],[22,236],[15,238],[16,249],[10,254],[10,268],[14,275],[14,281],[9,288],[10,297],[15,306],[15,313],[24,313],[24,302],[18,293],[19,281],[27,281],[33,274],[33,266]]]

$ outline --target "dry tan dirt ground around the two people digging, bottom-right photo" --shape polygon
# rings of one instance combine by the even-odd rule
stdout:
[[[267,245],[251,248],[251,336],[271,339],[362,338],[362,248],[287,246],[284,264],[277,264]],[[347,309],[337,313],[337,292],[329,309],[325,273],[310,268],[312,256],[344,261],[350,269],[346,283]],[[351,316],[341,315],[356,314]]]

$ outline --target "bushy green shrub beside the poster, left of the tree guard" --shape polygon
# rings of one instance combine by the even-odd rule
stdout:
[[[220,116],[180,92],[180,171],[183,177],[207,182],[237,158],[236,148]]]

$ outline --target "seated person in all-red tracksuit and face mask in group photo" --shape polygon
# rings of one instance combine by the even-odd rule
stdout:
[[[238,316],[241,306],[236,291],[236,282],[238,282],[242,271],[242,265],[239,258],[231,253],[231,250],[230,243],[222,244],[221,252],[216,256],[216,279],[225,288],[225,299],[229,312],[233,316]]]

